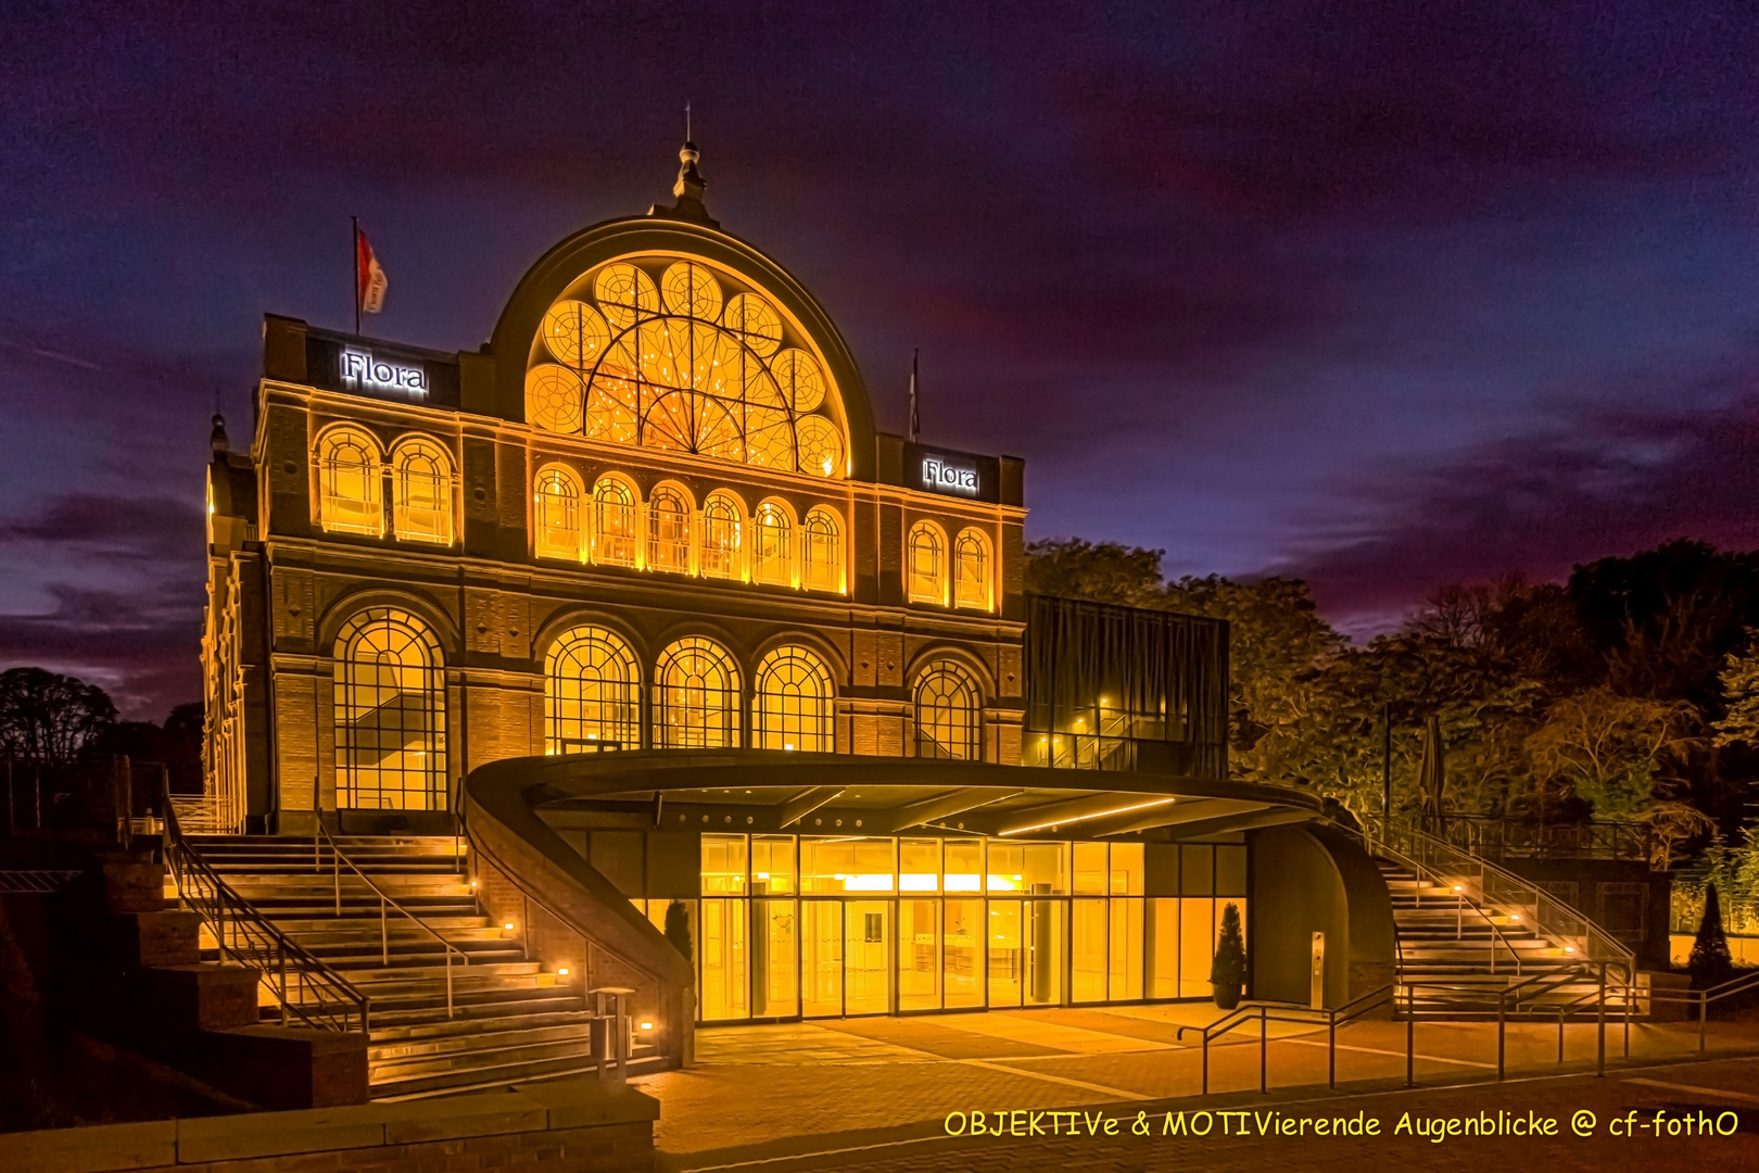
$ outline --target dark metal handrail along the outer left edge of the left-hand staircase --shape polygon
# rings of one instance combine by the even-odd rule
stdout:
[[[371,999],[304,946],[287,937],[241,897],[183,837],[178,812],[171,805],[169,783],[162,783],[162,791],[165,800],[165,865],[176,883],[178,899],[202,918],[220,953],[255,969],[259,980],[269,985],[281,1006],[283,1027],[292,1018],[299,1018],[301,1024],[315,1031],[347,1034],[355,1029],[350,1025],[350,1016],[357,1013],[359,1031],[368,1034],[371,1031]],[[292,974],[288,974],[288,962],[292,962]],[[294,983],[297,983],[297,995]],[[352,1006],[352,1013],[348,1006]]]

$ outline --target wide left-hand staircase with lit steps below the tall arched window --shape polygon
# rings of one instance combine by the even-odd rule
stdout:
[[[190,844],[276,929],[371,999],[368,1078],[373,1099],[413,1099],[593,1067],[580,976],[526,960],[519,936],[477,907],[464,858],[450,837],[338,837],[343,855],[449,944],[390,909],[341,865],[341,913],[329,844],[273,835],[192,835]],[[204,937],[204,944],[213,941]],[[389,958],[387,958],[389,950]],[[216,950],[209,950],[216,955]],[[264,987],[264,1020],[280,1011]],[[630,1075],[660,1069],[637,1045]]]

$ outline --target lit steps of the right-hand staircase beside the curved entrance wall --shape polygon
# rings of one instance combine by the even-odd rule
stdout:
[[[1532,1013],[1555,1022],[1560,1006],[1595,994],[1595,983],[1566,978],[1578,958],[1518,916],[1481,911],[1448,886],[1386,860],[1376,863],[1393,899],[1400,987],[1442,983],[1414,988],[1418,1018],[1495,1018],[1497,992],[1536,976],[1539,981],[1507,999],[1513,1016]],[[1400,988],[1400,1013],[1404,1006]]]

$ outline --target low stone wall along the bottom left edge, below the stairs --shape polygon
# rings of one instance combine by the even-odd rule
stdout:
[[[649,1173],[660,1103],[589,1078],[401,1104],[0,1136],[9,1173]]]

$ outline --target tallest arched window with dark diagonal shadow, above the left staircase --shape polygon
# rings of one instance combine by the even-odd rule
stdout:
[[[354,616],[336,637],[336,805],[445,811],[445,667],[420,619]]]

